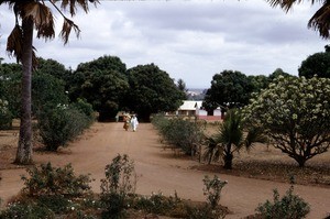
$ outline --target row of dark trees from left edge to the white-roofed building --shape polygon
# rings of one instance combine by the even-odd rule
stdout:
[[[156,65],[127,69],[116,56],[102,56],[66,69],[53,59],[38,58],[32,77],[32,112],[85,100],[98,112],[100,121],[111,120],[118,111],[135,112],[147,120],[151,113],[174,111],[185,99],[174,79]],[[11,117],[19,117],[21,66],[0,65],[0,99],[8,101]]]

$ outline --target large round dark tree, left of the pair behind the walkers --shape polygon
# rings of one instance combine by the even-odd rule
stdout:
[[[69,79],[70,99],[86,99],[99,112],[100,121],[114,118],[129,90],[125,70],[125,64],[117,56],[79,64]]]

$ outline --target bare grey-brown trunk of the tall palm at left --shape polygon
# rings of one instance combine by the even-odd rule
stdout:
[[[16,151],[16,164],[32,163],[32,122],[31,122],[31,79],[32,79],[32,41],[33,20],[23,19],[23,47],[22,47],[22,108],[20,140]]]

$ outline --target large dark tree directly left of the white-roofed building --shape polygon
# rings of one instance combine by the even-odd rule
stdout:
[[[138,65],[128,70],[130,91],[125,103],[143,120],[152,113],[175,111],[185,99],[169,75],[154,64]]]

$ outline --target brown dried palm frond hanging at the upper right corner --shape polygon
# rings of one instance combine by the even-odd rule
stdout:
[[[323,39],[330,37],[330,1],[324,1],[324,4],[311,17],[308,28],[318,31]]]

